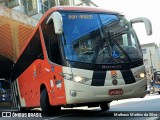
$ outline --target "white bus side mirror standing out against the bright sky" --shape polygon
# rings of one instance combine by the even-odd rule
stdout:
[[[152,24],[150,22],[150,20],[148,18],[145,18],[145,17],[139,17],[139,18],[135,18],[135,19],[132,19],[130,21],[132,24],[134,23],[140,23],[140,22],[143,22],[144,25],[145,25],[145,28],[146,28],[146,33],[147,35],[152,35]]]

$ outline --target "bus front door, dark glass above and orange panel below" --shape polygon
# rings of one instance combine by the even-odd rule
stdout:
[[[52,69],[49,83],[50,86],[53,86],[50,88],[53,93],[49,93],[50,98],[52,98],[50,99],[50,103],[52,105],[65,104],[64,80],[60,75],[62,73],[60,40],[58,35],[54,32],[54,25],[46,24],[47,20],[48,18],[42,22],[41,30],[46,48],[44,51],[46,53],[46,62],[50,65],[49,70]]]

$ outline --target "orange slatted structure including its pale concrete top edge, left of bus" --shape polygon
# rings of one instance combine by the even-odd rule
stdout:
[[[16,61],[38,21],[0,6],[0,55]]]

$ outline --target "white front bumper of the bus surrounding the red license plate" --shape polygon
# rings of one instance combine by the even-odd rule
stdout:
[[[133,84],[117,86],[89,86],[65,80],[67,104],[104,102],[128,98],[140,98],[146,95],[146,88],[146,80],[140,80]],[[109,91],[114,89],[122,89],[122,95],[109,95]]]

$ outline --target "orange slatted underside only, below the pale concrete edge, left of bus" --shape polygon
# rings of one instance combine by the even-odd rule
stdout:
[[[34,27],[7,18],[3,21],[0,24],[0,55],[16,61]]]

